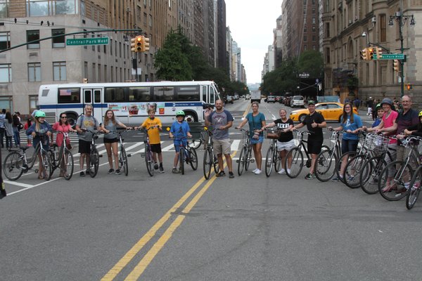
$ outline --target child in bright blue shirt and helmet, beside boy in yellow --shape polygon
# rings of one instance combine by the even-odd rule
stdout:
[[[179,162],[180,144],[186,146],[188,141],[186,138],[192,138],[191,128],[187,122],[184,121],[185,113],[183,110],[176,112],[176,121],[173,122],[170,128],[170,138],[174,138],[174,149],[176,155],[174,155],[173,162],[173,174],[179,174],[180,170],[177,170],[177,163]]]

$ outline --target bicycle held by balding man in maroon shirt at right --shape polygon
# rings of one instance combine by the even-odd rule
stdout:
[[[414,168],[411,163],[414,163],[415,166],[422,164],[421,155],[418,152],[418,141],[421,141],[421,138],[415,136],[409,136],[404,139],[401,145],[405,148],[410,147],[406,159],[404,161],[391,162],[381,171],[376,192],[379,191],[385,200],[397,201],[407,196],[409,186],[411,186],[409,181],[414,174]],[[394,170],[395,174],[389,175],[389,170]]]

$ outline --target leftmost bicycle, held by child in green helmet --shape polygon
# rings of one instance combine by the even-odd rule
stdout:
[[[49,156],[49,148],[46,147],[46,133],[40,134],[36,133],[40,140],[37,147],[34,149],[32,154],[31,162],[28,162],[26,150],[29,148],[27,146],[20,146],[19,150],[10,150],[9,154],[6,156],[3,162],[3,172],[6,178],[11,181],[16,181],[23,173],[27,173],[34,166],[35,161],[38,158],[38,154],[41,153],[41,165],[43,166],[43,176],[46,181],[49,181],[51,178],[51,159]],[[38,169],[34,169],[35,173],[38,173]]]

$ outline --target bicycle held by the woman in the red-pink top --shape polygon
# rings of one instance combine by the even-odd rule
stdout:
[[[66,143],[70,143],[69,133],[64,133],[63,131],[56,131],[55,133],[60,133],[63,135],[63,142],[58,147],[56,143],[53,143],[53,146],[50,149],[50,158],[51,158],[51,174],[54,173],[56,169],[60,169],[60,174],[63,174],[65,180],[70,180],[73,174],[73,155],[70,152]]]

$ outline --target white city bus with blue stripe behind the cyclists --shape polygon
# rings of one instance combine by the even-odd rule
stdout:
[[[65,112],[72,124],[87,103],[94,106],[98,122],[111,109],[124,124],[139,125],[150,107],[162,123],[173,122],[177,110],[184,110],[188,122],[203,122],[203,105],[215,104],[217,89],[213,81],[51,84],[39,87],[38,101],[51,123]]]

